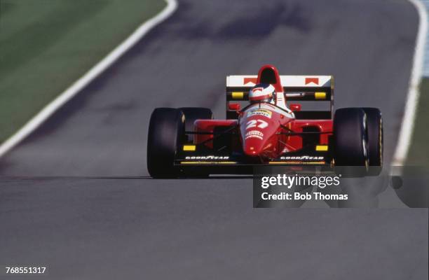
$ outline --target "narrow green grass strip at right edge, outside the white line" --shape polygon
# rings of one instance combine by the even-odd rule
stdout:
[[[429,167],[429,78],[420,86],[420,97],[407,165]]]

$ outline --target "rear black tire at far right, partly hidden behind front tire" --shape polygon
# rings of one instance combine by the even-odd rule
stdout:
[[[369,170],[367,176],[378,176],[383,169],[383,118],[376,108],[362,108],[367,115]]]

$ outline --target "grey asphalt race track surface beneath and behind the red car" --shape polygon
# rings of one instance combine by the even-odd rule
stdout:
[[[333,74],[336,108],[379,107],[390,162],[414,7],[261,3],[179,1],[0,159],[1,265],[46,265],[41,279],[428,279],[427,209],[252,209],[249,178],[149,178],[154,108],[205,106],[224,118],[225,76],[266,63],[284,74]],[[390,188],[379,200],[400,204]]]

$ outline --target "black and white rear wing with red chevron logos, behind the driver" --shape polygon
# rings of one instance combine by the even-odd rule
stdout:
[[[226,76],[226,118],[237,118],[237,112],[231,110],[230,102],[249,100],[249,91],[257,83],[257,76]],[[334,109],[333,76],[280,76],[286,102],[329,102],[326,111],[294,112],[297,119],[331,119]]]

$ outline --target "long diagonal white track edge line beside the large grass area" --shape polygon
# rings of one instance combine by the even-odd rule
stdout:
[[[92,69],[85,73],[79,80],[76,80],[67,90],[62,92],[57,98],[45,106],[36,116],[34,116],[28,123],[26,123],[18,132],[12,135],[11,138],[7,139],[0,146],[0,157],[11,151],[13,147],[25,139],[29,134],[34,132],[43,122],[45,122],[50,116],[52,116],[57,109],[67,103],[72,97],[78,94],[83,87],[86,87],[91,81],[99,76],[104,70],[109,68],[111,64],[114,64],[119,57],[125,52],[130,50],[133,45],[140,41],[144,35],[146,35],[151,29],[159,25],[161,22],[166,20],[172,13],[177,9],[176,0],[164,0],[167,2],[167,6],[161,10],[154,18],[147,20],[140,25],[128,38],[125,39],[120,45],[112,50],[109,55],[104,57],[100,62],[95,64]]]

